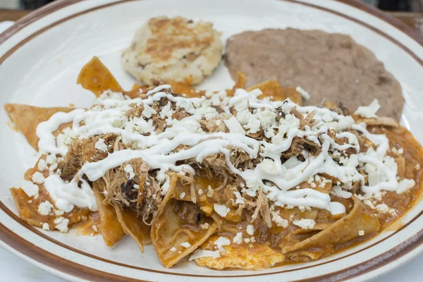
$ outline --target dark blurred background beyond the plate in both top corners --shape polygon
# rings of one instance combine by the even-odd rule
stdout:
[[[53,0],[0,0],[0,8],[33,10]],[[318,0],[317,0],[318,1]],[[362,0],[385,11],[423,12],[423,0]]]

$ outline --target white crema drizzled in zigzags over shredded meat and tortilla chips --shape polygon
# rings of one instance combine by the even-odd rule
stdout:
[[[106,92],[94,102],[97,106],[92,107],[92,109],[87,111],[75,110],[69,114],[62,113],[63,115],[55,114],[51,116],[49,121],[39,125],[37,135],[40,139],[39,143],[43,145],[40,148],[52,154],[66,153],[55,146],[52,132],[61,123],[68,121],[73,121],[72,130],[80,139],[92,135],[115,133],[121,135],[124,142],[132,142],[138,148],[137,150],[123,149],[109,154],[102,161],[84,164],[78,174],[82,181],[82,188],[78,187],[76,181],[71,183],[63,183],[62,181],[60,183],[59,176],[49,176],[46,180],[46,188],[51,193],[51,197],[56,200],[56,204],[59,202],[61,205],[59,208],[68,210],[71,209],[72,205],[90,207],[90,209],[97,208],[94,207],[95,199],[92,191],[87,188],[87,183],[82,179],[83,175],[94,181],[104,176],[109,169],[121,166],[126,161],[135,158],[142,158],[150,168],[158,168],[161,173],[188,170],[194,174],[195,171],[191,166],[188,164],[176,165],[177,161],[195,158],[197,162],[201,162],[204,157],[219,152],[226,156],[226,163],[231,171],[245,180],[246,189],[250,193],[255,194],[257,190],[262,189],[269,200],[278,206],[317,207],[327,209],[332,214],[345,212],[345,207],[338,202],[331,202],[331,197],[328,194],[312,188],[293,189],[317,173],[327,173],[340,179],[347,190],[353,181],[361,181],[362,190],[367,193],[367,196],[380,190],[398,189],[396,171],[391,171],[384,163],[389,147],[388,139],[384,135],[370,134],[365,125],[355,125],[351,116],[343,116],[329,109],[314,106],[298,106],[289,99],[285,102],[271,102],[266,98],[257,99],[257,96],[261,94],[259,90],[252,92],[237,90],[233,97],[223,97],[220,101],[220,105],[226,114],[230,112],[229,106],[234,106],[237,111],[242,111],[247,104],[251,108],[267,109],[273,112],[282,110],[286,114],[286,118],[281,119],[281,124],[272,125],[273,128],[278,130],[276,135],[271,138],[272,142],[257,141],[240,133],[207,134],[203,132],[198,121],[202,118],[215,118],[219,115],[216,109],[211,106],[214,102],[205,97],[174,97],[161,91],[165,89],[170,89],[170,86],[161,85],[154,90],[150,90],[147,92],[146,99],[125,99],[122,94]],[[143,118],[128,119],[125,113],[131,109],[130,105],[152,105],[154,101],[159,101],[164,97],[171,102],[175,102],[178,108],[183,108],[192,116],[183,118],[181,121],[168,118],[167,123],[171,127],[166,128],[163,133],[140,134],[145,128],[151,128],[152,124],[149,124]],[[312,128],[306,126],[305,130],[300,130],[298,119],[289,114],[293,107],[296,107],[303,115],[314,111],[314,120],[317,123]],[[363,176],[357,171],[357,165],[341,166],[329,156],[330,150],[343,151],[355,148],[357,152],[360,151],[357,137],[353,133],[336,133],[337,138],[348,139],[348,143],[344,145],[338,145],[327,134],[329,130],[341,131],[347,128],[362,132],[367,139],[376,145],[376,151],[369,150],[367,153],[357,154],[357,157],[360,162],[359,166],[372,164],[376,167],[376,171],[386,178],[381,183],[371,187],[365,186]],[[51,139],[52,137],[53,139]],[[303,152],[306,160],[303,162],[297,161],[295,166],[287,168],[284,164],[281,164],[281,153],[290,148],[295,137],[305,137],[307,140],[316,142],[321,147],[321,153],[317,157],[313,157],[311,154]],[[189,146],[190,149],[172,152],[179,145]],[[269,173],[262,167],[262,164],[245,171],[235,168],[230,161],[231,151],[228,149],[229,146],[243,149],[247,154],[250,154],[251,158],[257,158],[260,154],[262,157],[271,159],[276,173]],[[93,199],[94,203],[92,202]]]

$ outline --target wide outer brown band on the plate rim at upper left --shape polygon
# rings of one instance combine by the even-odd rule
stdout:
[[[4,32],[0,33],[0,44],[5,42],[6,39],[14,35],[19,30],[22,30],[23,27],[34,23],[36,20],[39,20],[39,18],[43,18],[49,13],[53,13],[61,8],[71,6],[72,4],[78,3],[80,1],[82,0],[56,0],[45,6],[42,6],[41,8],[35,11],[32,11],[31,13],[28,13],[26,16],[23,16],[19,20],[16,20],[16,22],[7,30],[4,30]]]

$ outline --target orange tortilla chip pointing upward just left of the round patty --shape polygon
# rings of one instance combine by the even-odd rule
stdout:
[[[82,68],[76,83],[86,90],[90,90],[97,97],[106,90],[123,92],[121,85],[96,56],[92,57],[91,61]]]

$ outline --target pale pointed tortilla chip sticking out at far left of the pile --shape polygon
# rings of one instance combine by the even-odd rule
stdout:
[[[38,106],[27,106],[20,104],[5,104],[8,116],[11,118],[16,127],[25,135],[27,141],[32,147],[38,151],[37,126],[43,121],[47,121],[51,116],[63,111],[68,113],[73,111],[72,108],[55,107],[40,108]]]

